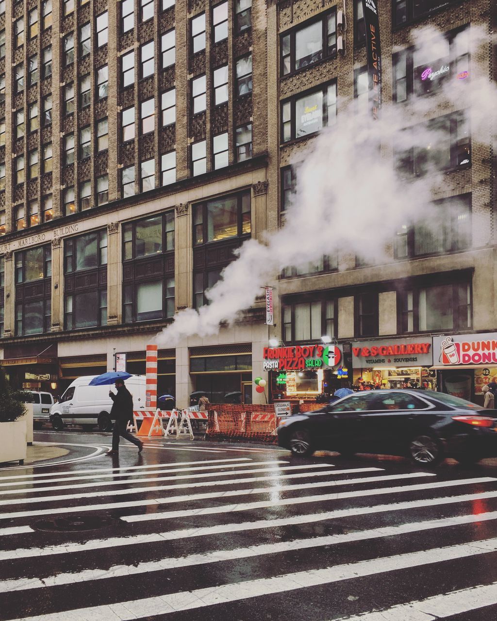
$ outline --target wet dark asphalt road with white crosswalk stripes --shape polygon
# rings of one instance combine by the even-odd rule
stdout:
[[[35,441],[70,453],[0,468],[1,620],[497,619],[497,460]]]

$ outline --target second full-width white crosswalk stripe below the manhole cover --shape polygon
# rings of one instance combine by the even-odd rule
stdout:
[[[163,571],[165,569],[179,569],[181,567],[193,567],[207,563],[221,563],[234,561],[242,558],[255,558],[268,554],[292,552],[295,550],[308,550],[309,548],[321,548],[322,546],[339,545],[367,541],[382,537],[396,537],[408,533],[417,533],[435,528],[454,527],[461,524],[474,524],[483,520],[497,520],[497,511],[482,515],[462,515],[460,517],[445,517],[422,522],[411,522],[398,526],[370,528],[358,532],[345,533],[343,535],[326,535],[324,537],[309,537],[293,539],[286,542],[262,543],[246,548],[234,548],[232,550],[214,550],[179,558],[162,558],[158,561],[144,561],[142,563],[126,565],[112,565],[108,569],[83,569],[76,573],[57,574],[45,578],[18,578],[6,579],[0,582],[0,593],[11,591],[24,591],[25,589],[41,589],[44,587],[60,586],[61,584],[75,584],[76,582],[88,582],[106,578],[119,578],[121,576],[134,576],[150,571]],[[150,576],[153,579],[153,576]]]

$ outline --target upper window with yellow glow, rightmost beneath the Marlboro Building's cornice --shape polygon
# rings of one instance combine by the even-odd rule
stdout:
[[[242,237],[250,235],[250,231],[250,192],[222,196],[194,206],[194,245]]]

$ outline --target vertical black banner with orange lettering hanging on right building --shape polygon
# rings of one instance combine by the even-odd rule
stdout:
[[[381,106],[381,45],[378,0],[362,0],[366,27],[369,101],[373,119],[378,119]]]

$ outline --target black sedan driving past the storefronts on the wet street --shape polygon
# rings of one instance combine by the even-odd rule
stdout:
[[[445,457],[469,464],[497,456],[496,418],[497,410],[443,392],[363,391],[281,420],[278,443],[302,457],[321,449],[409,456],[418,465]]]

